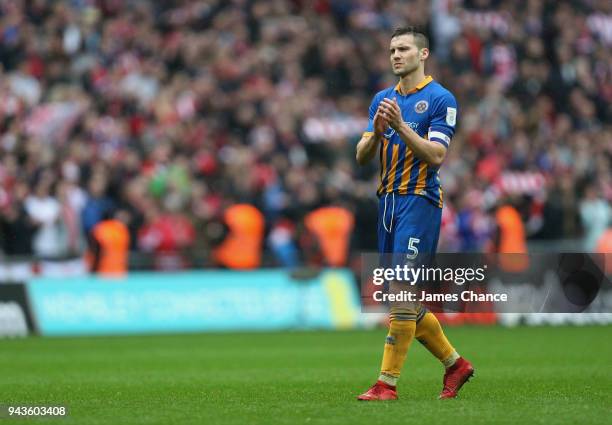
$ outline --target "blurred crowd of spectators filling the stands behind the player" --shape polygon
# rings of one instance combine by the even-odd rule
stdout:
[[[132,251],[210,264],[237,203],[264,217],[267,264],[289,261],[279,240],[300,261],[325,205],[375,250],[378,164],[354,148],[406,24],[460,106],[441,249],[483,249],[511,197],[529,238],[593,250],[612,217],[608,0],[3,0],[2,250],[81,255],[112,210]]]

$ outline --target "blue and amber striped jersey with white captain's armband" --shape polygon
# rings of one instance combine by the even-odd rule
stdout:
[[[364,135],[373,133],[374,115],[384,98],[397,99],[404,121],[419,136],[448,148],[457,124],[457,101],[431,76],[409,93],[401,93],[399,84],[376,93]],[[442,208],[439,167],[430,167],[417,158],[392,128],[387,130],[380,146],[380,165],[379,196],[390,192],[424,196]]]

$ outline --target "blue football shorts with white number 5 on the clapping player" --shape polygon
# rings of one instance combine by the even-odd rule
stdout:
[[[378,252],[433,256],[441,222],[442,208],[422,196],[384,194],[378,201]]]

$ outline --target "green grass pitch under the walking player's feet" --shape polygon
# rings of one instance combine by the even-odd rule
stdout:
[[[447,329],[476,377],[438,401],[442,368],[413,344],[400,400],[358,402],[385,331],[0,341],[0,404],[65,404],[74,424],[602,424],[612,327]]]

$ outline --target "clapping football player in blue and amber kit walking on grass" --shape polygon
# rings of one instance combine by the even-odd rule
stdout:
[[[356,157],[360,165],[377,152],[380,157],[379,253],[416,258],[436,252],[443,200],[439,168],[455,132],[457,102],[425,76],[429,42],[423,33],[398,28],[391,35],[389,53],[399,83],[374,96]],[[431,312],[419,303],[403,303],[391,305],[380,376],[359,400],[397,399],[397,380],[415,337],[446,368],[439,398],[457,396],[474,368],[457,354]]]

